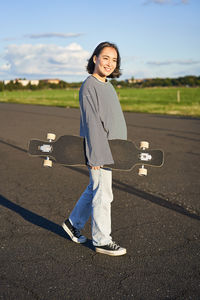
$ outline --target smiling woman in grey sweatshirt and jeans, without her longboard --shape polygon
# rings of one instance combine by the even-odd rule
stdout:
[[[112,241],[111,202],[112,171],[103,165],[113,164],[108,140],[127,139],[124,115],[112,84],[107,78],[120,73],[120,55],[115,44],[100,43],[87,65],[91,74],[83,82],[80,93],[80,135],[85,138],[85,152],[90,182],[76,203],[63,229],[76,243],[86,242],[80,234],[91,216],[92,242],[96,252],[119,256],[126,249]]]

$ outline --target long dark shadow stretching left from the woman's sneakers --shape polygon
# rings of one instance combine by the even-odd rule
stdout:
[[[51,231],[54,234],[57,234],[57,235],[61,236],[62,238],[65,238],[65,239],[68,239],[69,241],[71,241],[71,239],[68,237],[68,235],[63,230],[62,226],[44,218],[26,208],[23,208],[22,206],[20,206],[18,204],[11,202],[10,200],[3,197],[2,195],[0,195],[0,204],[4,207],[14,211],[15,213],[18,213],[24,220],[26,220],[36,226],[42,227],[48,231]],[[86,243],[81,244],[81,245],[94,250],[92,241],[89,239],[87,240]]]

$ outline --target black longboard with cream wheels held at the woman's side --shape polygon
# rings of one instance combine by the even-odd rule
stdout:
[[[56,141],[53,133],[47,134],[47,141],[32,139],[28,145],[28,153],[33,156],[46,157],[44,167],[52,167],[52,160],[65,166],[87,165],[85,142],[83,137],[63,135]],[[104,165],[104,168],[130,171],[140,165],[138,174],[147,175],[145,166],[161,167],[164,163],[162,150],[149,149],[149,143],[140,142],[140,148],[130,140],[109,140],[114,164]]]

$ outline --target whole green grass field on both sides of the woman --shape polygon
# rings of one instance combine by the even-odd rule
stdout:
[[[123,111],[200,117],[200,88],[121,88],[116,91]],[[73,89],[3,91],[0,102],[79,107],[78,90]]]

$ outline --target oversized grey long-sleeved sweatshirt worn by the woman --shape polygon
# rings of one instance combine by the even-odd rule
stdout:
[[[113,164],[108,140],[127,139],[127,128],[112,84],[89,76],[79,92],[80,136],[85,137],[88,165]]]

